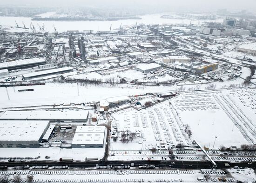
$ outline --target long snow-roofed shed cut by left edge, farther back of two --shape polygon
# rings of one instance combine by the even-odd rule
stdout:
[[[40,64],[45,62],[46,61],[43,58],[30,58],[30,59],[17,60],[17,61],[11,61],[11,62],[3,62],[3,63],[0,63],[0,69],[20,67],[20,66],[37,64],[37,63]]]

